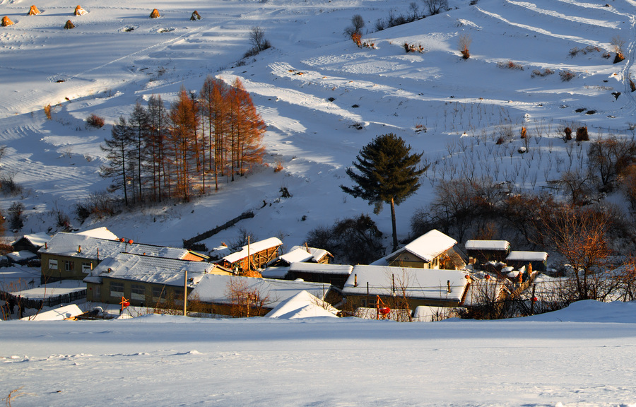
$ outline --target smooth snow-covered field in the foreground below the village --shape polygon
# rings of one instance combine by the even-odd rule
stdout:
[[[500,322],[0,322],[12,406],[634,406],[636,305]]]

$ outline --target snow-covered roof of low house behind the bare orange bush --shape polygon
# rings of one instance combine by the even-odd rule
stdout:
[[[218,276],[206,274],[201,278],[192,293],[192,298],[202,302],[228,304],[230,283],[242,285],[246,290],[256,290],[262,297],[269,297],[266,308],[276,307],[281,302],[300,293],[302,290],[322,299],[331,288],[330,284],[310,283],[307,281],[275,280],[273,278],[253,278],[241,276]]]

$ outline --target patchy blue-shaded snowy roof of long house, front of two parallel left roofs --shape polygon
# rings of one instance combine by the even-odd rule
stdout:
[[[194,287],[204,274],[211,273],[216,267],[216,264],[204,261],[185,261],[119,253],[102,261],[99,266],[90,271],[84,281],[99,284],[102,282],[102,277],[109,277],[143,283],[182,286],[184,273],[187,271],[188,280],[192,278],[188,286]]]

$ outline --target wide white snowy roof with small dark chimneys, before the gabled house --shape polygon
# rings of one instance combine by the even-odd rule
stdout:
[[[413,269],[410,267],[354,266],[347,279],[344,295],[366,295],[369,283],[370,295],[392,295],[395,281],[396,295],[428,300],[460,301],[466,290],[467,273],[459,270]],[[354,286],[355,279],[358,285]],[[448,285],[450,283],[450,293]]]

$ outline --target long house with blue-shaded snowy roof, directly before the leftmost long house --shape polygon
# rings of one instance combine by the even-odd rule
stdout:
[[[174,307],[183,304],[186,272],[189,289],[206,274],[232,274],[204,261],[118,253],[104,259],[84,278],[86,300],[119,304],[125,297],[131,305]]]

